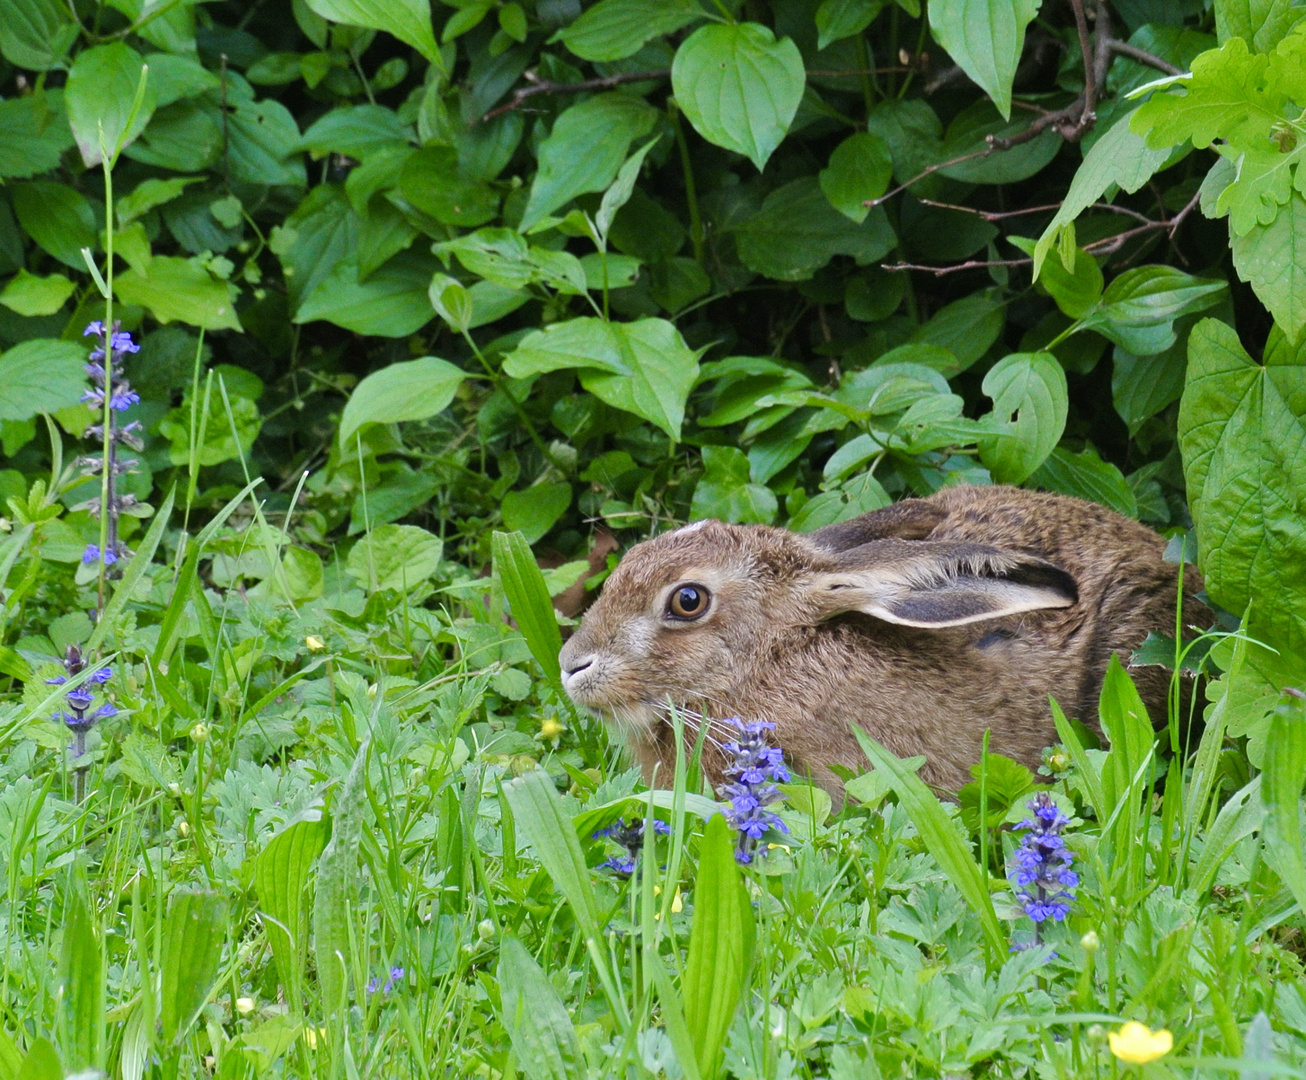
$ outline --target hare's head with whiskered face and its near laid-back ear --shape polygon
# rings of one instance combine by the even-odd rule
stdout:
[[[567,693],[646,734],[669,700],[734,716],[747,688],[795,662],[794,643],[838,615],[943,628],[1077,598],[1070,575],[1021,552],[904,539],[837,550],[841,535],[699,521],[636,545],[563,646]]]

